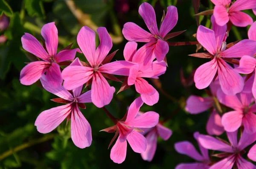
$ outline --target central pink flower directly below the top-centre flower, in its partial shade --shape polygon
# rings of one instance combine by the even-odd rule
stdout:
[[[140,50],[140,49],[139,49]],[[137,43],[128,42],[125,45],[124,57],[126,61],[138,63],[131,67],[128,77],[128,85],[135,85],[135,89],[140,93],[140,97],[144,103],[149,106],[154,105],[159,100],[159,93],[153,86],[151,86],[143,77],[158,79],[158,76],[166,72],[166,63],[164,61],[154,61],[151,66],[145,68],[140,62],[143,59],[142,53],[140,57],[134,59],[137,54]],[[144,54],[145,55],[145,54]],[[140,60],[138,60],[140,59]]]

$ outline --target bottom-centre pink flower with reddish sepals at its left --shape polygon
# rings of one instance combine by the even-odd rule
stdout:
[[[127,141],[134,152],[142,153],[146,150],[147,140],[140,134],[141,130],[139,128],[151,128],[156,126],[159,115],[156,112],[146,112],[136,117],[142,105],[143,101],[141,97],[138,97],[131,103],[125,120],[124,117],[122,120],[119,120],[115,126],[102,130],[105,132],[116,131],[116,135],[111,140],[111,143],[115,140],[117,135],[119,135],[110,153],[110,158],[115,163],[122,163],[125,160]]]

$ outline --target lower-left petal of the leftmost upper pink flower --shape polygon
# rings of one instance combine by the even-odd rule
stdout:
[[[49,69],[50,64],[44,61],[36,61],[27,64],[20,71],[20,83],[23,85],[32,85]]]

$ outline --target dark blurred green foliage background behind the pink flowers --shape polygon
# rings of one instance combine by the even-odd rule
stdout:
[[[157,23],[167,6],[177,6],[179,19],[171,32],[187,30],[170,39],[171,42],[196,41],[193,34],[197,30],[192,0],[0,0],[0,14],[6,14],[9,26],[0,30],[0,169],[101,169],[101,168],[168,168],[173,169],[178,163],[193,162],[185,155],[175,152],[174,143],[189,140],[196,142],[193,133],[206,134],[205,125],[208,113],[189,115],[184,111],[186,98],[191,94],[205,95],[203,90],[182,85],[180,70],[185,78],[205,63],[206,59],[192,58],[196,46],[170,46],[167,54],[168,68],[160,80],[149,81],[160,92],[160,100],[154,106],[143,105],[141,111],[155,111],[160,120],[166,120],[165,126],[172,129],[169,140],[158,140],[157,151],[151,163],[143,161],[140,154],[134,153],[128,146],[124,163],[118,165],[110,159],[110,143],[113,133],[99,132],[113,123],[102,109],[92,103],[81,110],[92,127],[93,143],[86,149],[79,149],[70,139],[69,126],[66,121],[49,134],[37,132],[34,122],[40,112],[61,104],[50,99],[55,95],[43,90],[40,83],[23,86],[19,82],[20,70],[33,59],[22,49],[20,38],[24,32],[41,38],[41,27],[54,21],[59,34],[58,50],[70,43],[78,47],[76,35],[86,25],[96,30],[105,26],[111,33],[113,49],[120,49],[113,60],[124,60],[123,49],[127,40],[122,36],[122,27],[126,22],[134,22],[147,30],[143,19],[138,14],[141,3],[147,1],[154,6]],[[209,0],[201,0],[199,11],[212,9]],[[246,11],[253,17],[251,10]],[[210,26],[210,16],[201,16],[201,24]],[[159,25],[158,24],[158,25]],[[247,28],[233,27],[227,42],[247,38]],[[3,37],[4,36],[4,37]],[[98,39],[96,43],[99,43]],[[143,43],[139,43],[142,46]],[[202,50],[202,49],[201,49]],[[82,54],[77,56],[84,60]],[[119,90],[121,83],[110,82]],[[106,108],[115,117],[123,117],[127,106],[138,97],[134,86],[114,95]],[[15,150],[13,152],[13,150]]]

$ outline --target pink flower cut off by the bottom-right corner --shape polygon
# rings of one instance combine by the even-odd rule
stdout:
[[[256,134],[249,135],[244,131],[239,143],[237,143],[237,132],[237,130],[235,132],[227,132],[231,145],[209,135],[198,136],[198,141],[204,148],[224,152],[214,155],[225,158],[212,165],[209,169],[232,169],[235,163],[238,169],[256,168],[253,163],[250,163],[241,156],[244,154],[244,149],[256,140]]]

